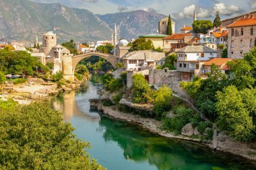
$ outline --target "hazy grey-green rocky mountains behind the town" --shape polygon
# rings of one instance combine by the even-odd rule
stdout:
[[[119,38],[130,40],[156,33],[158,21],[166,15],[143,10],[95,15],[87,9],[60,3],[34,3],[28,0],[0,1],[0,38],[34,41],[36,35],[53,31],[58,42],[111,40],[117,24]]]

